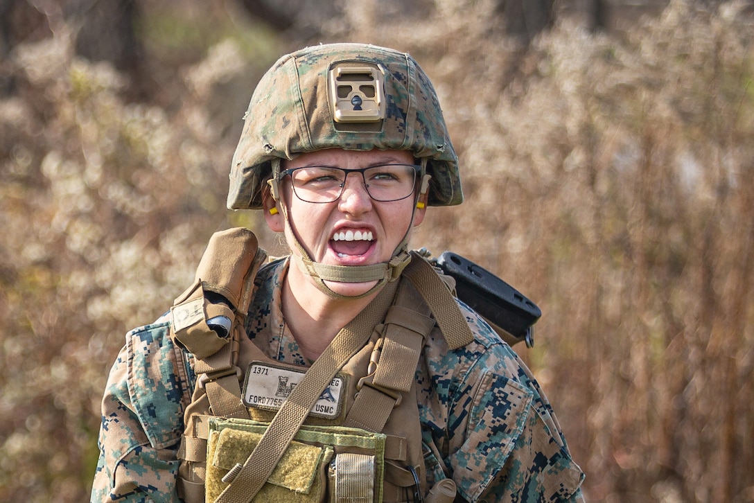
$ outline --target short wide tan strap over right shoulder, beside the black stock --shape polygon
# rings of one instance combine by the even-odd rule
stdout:
[[[445,282],[424,257],[412,251],[411,262],[403,270],[403,275],[421,293],[450,349],[462,348],[474,341],[474,334],[461,308],[458,308]]]

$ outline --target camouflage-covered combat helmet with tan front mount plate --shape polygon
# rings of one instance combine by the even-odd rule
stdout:
[[[262,184],[275,158],[330,148],[409,150],[431,175],[428,204],[463,201],[437,94],[409,54],[366,44],[287,54],[259,81],[244,120],[231,164],[230,209],[262,207]]]

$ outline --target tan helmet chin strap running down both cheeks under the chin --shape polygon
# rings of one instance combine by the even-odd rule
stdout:
[[[388,262],[380,262],[379,264],[372,265],[329,265],[320,262],[314,262],[309,254],[306,252],[302,244],[299,242],[299,238],[296,236],[296,232],[290,225],[290,217],[288,209],[285,204],[280,204],[281,212],[286,227],[290,231],[290,235],[293,236],[293,242],[296,244],[296,250],[299,254],[292,253],[294,261],[299,270],[305,275],[311,276],[314,280],[314,284],[317,285],[323,293],[334,299],[362,299],[369,296],[372,293],[380,290],[389,281],[395,281],[400,277],[400,273],[403,268],[411,262],[411,256],[409,255],[409,235],[414,222],[414,216],[416,213],[416,204],[418,199],[427,192],[429,186],[430,175],[424,174],[426,171],[427,160],[421,159],[421,188],[414,197],[414,204],[411,209],[411,219],[409,220],[409,227],[406,228],[406,233],[403,235],[403,239],[400,244],[393,251],[393,255]],[[272,161],[272,176],[270,180],[270,186],[272,188],[272,197],[275,201],[280,201],[280,193],[277,187],[277,173],[280,173],[280,159],[274,159]],[[333,291],[325,284],[325,281],[336,281],[338,283],[369,283],[376,281],[377,283],[366,290],[364,293],[360,293],[355,296],[346,296],[341,293]]]

